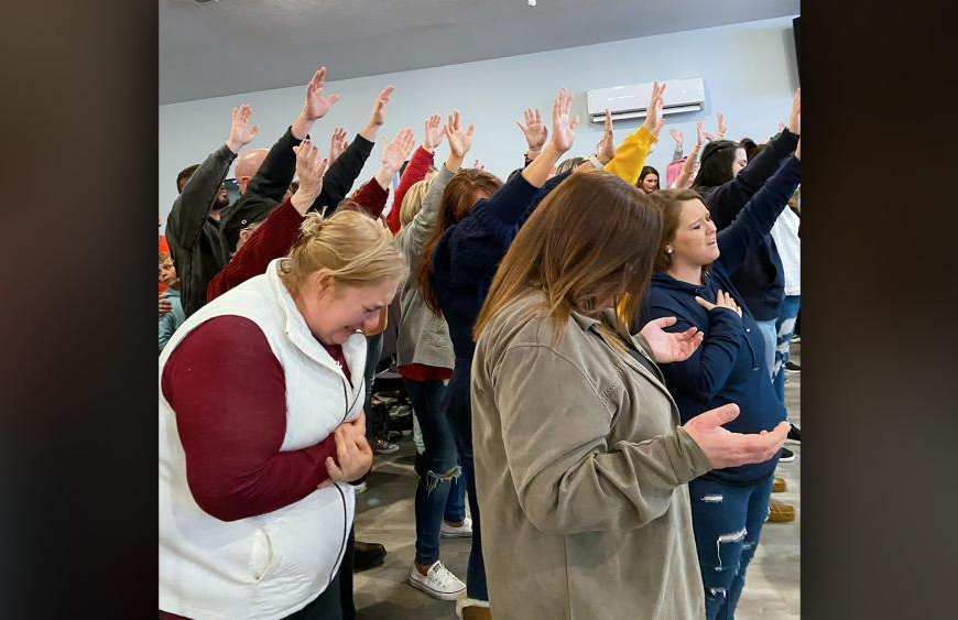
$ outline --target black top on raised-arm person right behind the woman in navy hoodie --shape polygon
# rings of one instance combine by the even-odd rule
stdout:
[[[795,152],[798,137],[783,130],[738,176],[716,187],[694,187],[701,194],[719,230],[728,228],[745,203]],[[791,198],[791,196],[790,196]],[[785,269],[771,235],[765,235],[731,275],[745,307],[756,320],[779,318],[785,298]]]

